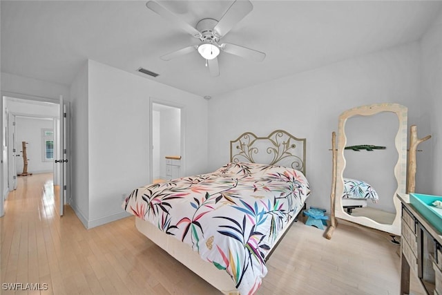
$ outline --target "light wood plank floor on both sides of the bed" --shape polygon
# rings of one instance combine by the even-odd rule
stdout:
[[[19,178],[1,228],[1,294],[214,294],[216,289],[135,229],[133,217],[86,230],[55,209],[52,174]],[[332,240],[297,222],[271,256],[258,294],[399,294],[390,236],[340,224]],[[47,290],[12,292],[3,283]],[[412,289],[420,294],[416,284]]]

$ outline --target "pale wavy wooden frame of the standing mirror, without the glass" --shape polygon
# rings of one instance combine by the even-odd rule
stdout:
[[[365,216],[352,216],[343,208],[342,198],[344,191],[344,170],[346,160],[344,155],[345,146],[347,144],[347,136],[345,134],[345,124],[350,117],[354,116],[370,116],[383,112],[392,112],[398,118],[398,131],[394,139],[396,151],[398,153],[398,160],[394,166],[394,177],[396,178],[397,188],[394,196],[379,196],[379,198],[393,198],[394,208],[396,213],[392,224],[383,224],[376,222]],[[386,231],[397,236],[401,235],[401,202],[398,200],[396,193],[405,193],[406,189],[406,173],[407,173],[407,107],[400,104],[371,104],[365,106],[358,106],[343,112],[339,116],[338,126],[338,147],[336,159],[336,199],[335,199],[335,215],[337,218],[355,222],[359,225],[371,227],[381,231]],[[362,143],[361,144],[368,144]],[[381,151],[378,151],[381,152]],[[370,151],[369,153],[373,153]],[[377,152],[375,152],[377,153]]]

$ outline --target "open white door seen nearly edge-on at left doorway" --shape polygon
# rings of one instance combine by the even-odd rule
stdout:
[[[68,147],[69,147],[69,124],[68,124],[68,107],[66,107],[66,103],[63,100],[63,95],[60,95],[60,121],[59,121],[59,137],[58,137],[58,151],[57,155],[59,155],[59,159],[55,160],[55,164],[59,165],[57,171],[58,181],[59,181],[59,213],[60,216],[63,216],[64,213],[64,203],[65,198],[70,196],[68,193],[69,189],[69,180],[70,180],[70,163],[68,161]]]

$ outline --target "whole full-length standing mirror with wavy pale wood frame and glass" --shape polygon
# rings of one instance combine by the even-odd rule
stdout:
[[[405,193],[407,108],[372,104],[339,117],[336,217],[401,233],[396,193]]]

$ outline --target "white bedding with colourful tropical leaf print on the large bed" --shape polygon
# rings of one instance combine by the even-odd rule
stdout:
[[[309,193],[300,171],[240,162],[140,187],[122,206],[225,270],[240,294],[254,294],[267,274],[266,254]]]

